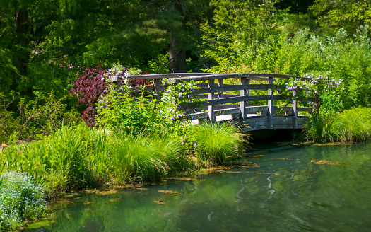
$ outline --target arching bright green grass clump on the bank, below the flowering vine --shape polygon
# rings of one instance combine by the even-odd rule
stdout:
[[[134,137],[132,134],[116,132],[109,146],[116,182],[155,182],[170,170],[185,163],[179,141],[171,135]]]

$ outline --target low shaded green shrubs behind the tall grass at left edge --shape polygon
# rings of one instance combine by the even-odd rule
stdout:
[[[15,97],[13,93],[13,100]],[[20,98],[16,115],[7,109],[13,100],[6,100],[0,93],[0,142],[9,141],[11,137],[16,140],[38,139],[50,134],[62,123],[78,122],[78,112],[73,108],[66,110],[67,105],[62,103],[65,98],[57,100],[54,92],[39,93],[35,100]]]

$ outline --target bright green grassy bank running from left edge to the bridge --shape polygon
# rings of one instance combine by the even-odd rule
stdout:
[[[176,173],[223,165],[242,149],[245,138],[237,132],[238,128],[230,124],[193,125],[182,136],[177,133],[133,135],[84,124],[62,126],[41,140],[11,142],[1,148],[0,171],[24,173],[30,180],[29,185],[42,190],[42,199],[58,199],[74,190],[160,182]],[[208,137],[210,134],[212,137]],[[1,183],[0,187],[7,189]],[[21,189],[17,189],[19,195],[23,195]],[[14,207],[23,199],[12,199],[11,193],[0,196],[2,202],[3,199],[11,199],[11,202],[4,210],[0,209],[0,215],[16,216],[13,221],[0,225],[0,230],[18,228],[21,221],[28,218],[20,208]],[[32,220],[44,215],[45,210],[41,210]]]

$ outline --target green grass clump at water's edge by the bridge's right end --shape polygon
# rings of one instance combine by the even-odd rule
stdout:
[[[308,139],[356,142],[371,139],[371,108],[353,108],[338,114],[313,115],[305,125]]]

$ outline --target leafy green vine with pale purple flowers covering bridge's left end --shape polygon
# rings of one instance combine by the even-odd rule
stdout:
[[[141,88],[142,91],[136,94],[127,84],[119,90],[110,86],[107,95],[98,102],[98,126],[120,128],[128,134],[181,131],[187,124],[187,115],[177,110],[177,106],[187,101],[186,95],[196,88],[194,83],[168,86],[161,93],[160,102],[154,93],[144,91],[144,86]]]

